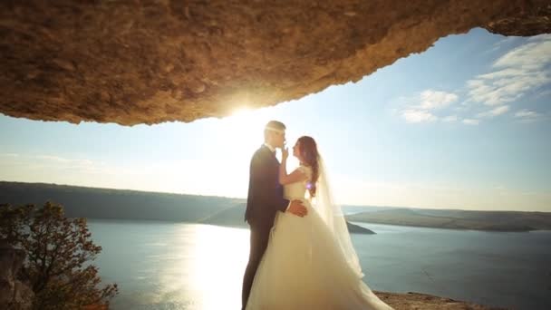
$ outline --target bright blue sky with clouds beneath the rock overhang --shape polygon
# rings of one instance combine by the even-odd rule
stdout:
[[[289,147],[314,137],[340,204],[551,211],[551,35],[482,29],[225,119],[125,127],[0,114],[0,180],[245,198],[269,120],[285,122]]]

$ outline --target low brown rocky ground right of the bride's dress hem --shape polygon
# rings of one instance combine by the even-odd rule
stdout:
[[[505,310],[412,292],[408,294],[375,292],[375,294],[395,310]]]

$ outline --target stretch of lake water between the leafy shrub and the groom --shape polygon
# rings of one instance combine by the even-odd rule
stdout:
[[[102,280],[118,309],[239,309],[247,229],[162,222],[90,221]]]

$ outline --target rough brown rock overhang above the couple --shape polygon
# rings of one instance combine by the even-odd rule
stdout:
[[[359,81],[473,27],[549,33],[550,13],[551,0],[3,0],[0,112],[219,117]]]

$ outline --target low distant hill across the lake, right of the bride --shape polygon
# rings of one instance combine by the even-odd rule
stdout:
[[[387,208],[356,213],[353,222],[427,228],[529,231],[551,229],[551,213],[521,211],[470,211],[454,209]]]

